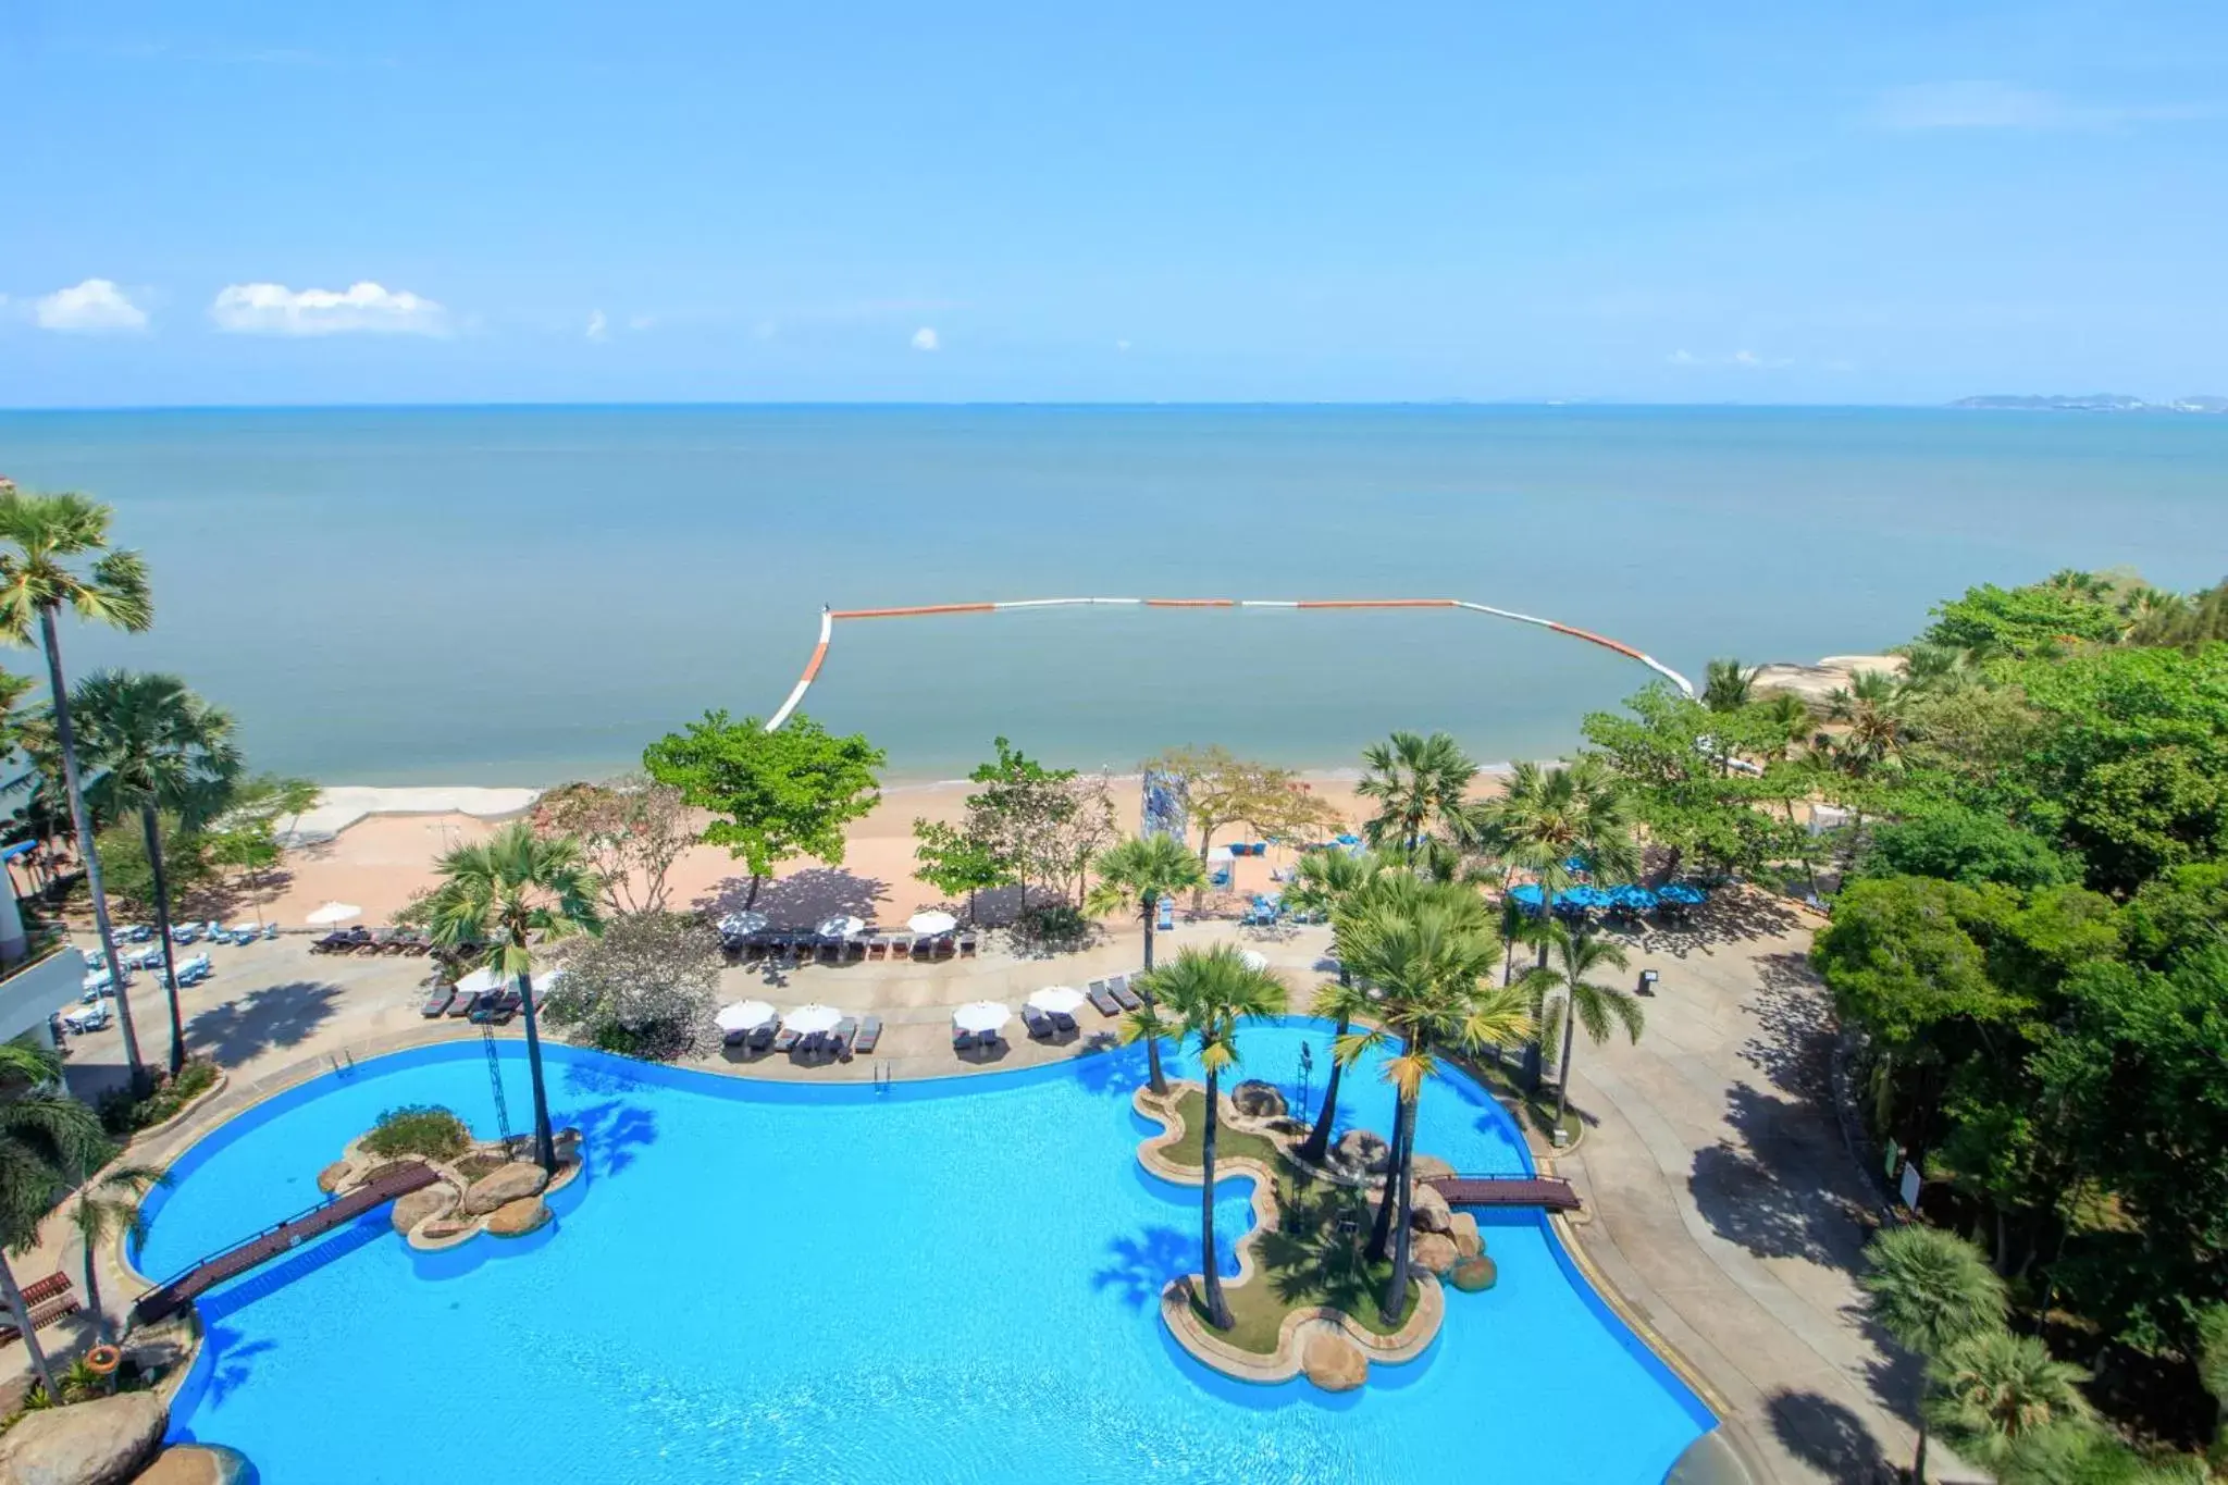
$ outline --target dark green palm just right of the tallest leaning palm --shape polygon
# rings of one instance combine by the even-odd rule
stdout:
[[[154,926],[163,942],[163,989],[169,995],[169,1073],[185,1066],[185,1017],[178,1009],[178,957],[169,942],[169,879],[163,875],[163,815],[180,833],[214,819],[241,777],[232,717],[185,688],[174,675],[96,670],[78,681],[71,708],[85,721],[85,795],[109,819],[138,810],[154,875]]]

